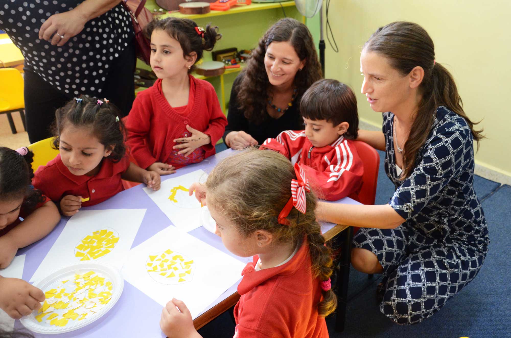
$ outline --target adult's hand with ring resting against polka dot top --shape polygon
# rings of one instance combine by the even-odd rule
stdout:
[[[70,38],[80,33],[87,18],[75,9],[50,16],[39,29],[39,39],[50,41],[51,44],[62,46]]]

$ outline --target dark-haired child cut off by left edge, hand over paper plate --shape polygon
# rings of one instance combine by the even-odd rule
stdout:
[[[34,154],[25,147],[0,147],[0,269],[7,268],[18,249],[49,234],[60,221],[55,204],[34,189]],[[0,309],[18,319],[38,309],[44,294],[24,280],[0,276]]]

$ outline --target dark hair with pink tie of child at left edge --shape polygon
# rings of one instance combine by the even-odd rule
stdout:
[[[44,201],[42,193],[33,189],[34,170],[31,166],[34,153],[22,148],[24,155],[7,147],[0,147],[0,200],[23,198],[23,207],[27,212]]]

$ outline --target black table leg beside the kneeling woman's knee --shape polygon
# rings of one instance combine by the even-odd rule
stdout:
[[[353,227],[341,233],[341,259],[339,261],[339,276],[337,278],[337,318],[335,322],[335,330],[337,332],[344,331],[344,322],[346,319],[346,306],[348,299],[348,282],[350,279],[350,262],[351,249],[353,240]]]

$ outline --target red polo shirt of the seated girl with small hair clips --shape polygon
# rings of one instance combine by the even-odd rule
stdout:
[[[88,207],[101,203],[124,190],[121,175],[128,170],[129,164],[126,156],[117,163],[104,158],[98,174],[76,176],[71,174],[62,163],[59,154],[47,165],[39,167],[32,179],[32,184],[57,205],[64,196],[74,195],[90,198],[82,202],[82,207]]]

